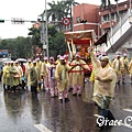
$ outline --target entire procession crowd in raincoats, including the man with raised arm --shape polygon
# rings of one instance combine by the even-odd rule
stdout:
[[[92,72],[92,100],[101,109],[100,114],[109,120],[114,117],[109,110],[109,105],[114,98],[116,85],[125,84],[125,77],[130,75],[132,82],[132,58],[129,62],[127,54],[117,55],[110,62],[107,55],[95,54],[89,51],[91,57]],[[73,96],[81,96],[84,88],[85,72],[90,72],[91,67],[81,59],[79,54],[72,61],[67,56],[57,56],[50,59],[45,56],[42,62],[38,57],[35,61],[28,59],[25,66],[19,62],[6,62],[2,74],[3,89],[15,92],[18,89],[31,87],[32,94],[37,94],[37,88],[51,92],[51,98],[58,98],[59,102],[68,102],[68,90],[73,88]]]

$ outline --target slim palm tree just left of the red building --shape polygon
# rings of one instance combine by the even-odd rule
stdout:
[[[66,6],[66,12],[69,12],[70,15],[70,29],[73,31],[73,14],[72,14],[72,7],[79,4],[78,2],[75,2],[75,0],[64,0]]]

